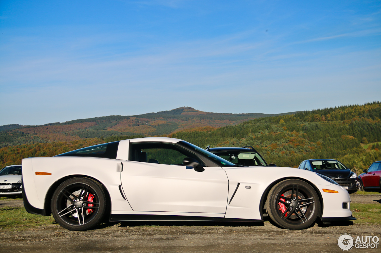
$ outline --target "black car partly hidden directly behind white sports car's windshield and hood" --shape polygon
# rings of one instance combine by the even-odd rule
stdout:
[[[267,164],[263,157],[251,146],[245,147],[218,147],[207,150],[238,166],[276,166]]]

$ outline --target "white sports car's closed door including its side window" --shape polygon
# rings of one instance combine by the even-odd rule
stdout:
[[[197,159],[174,144],[130,144],[130,160],[123,161],[123,191],[134,211],[225,213],[228,180],[221,167],[197,172],[182,165]]]

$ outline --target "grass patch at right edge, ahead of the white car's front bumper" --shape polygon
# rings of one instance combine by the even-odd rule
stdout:
[[[351,203],[352,215],[357,218],[355,224],[381,225],[380,204]]]

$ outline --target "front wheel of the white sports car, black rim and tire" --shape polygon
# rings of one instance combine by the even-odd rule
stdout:
[[[319,210],[318,194],[311,185],[299,179],[277,183],[267,196],[267,212],[271,220],[282,228],[308,228],[315,222]]]

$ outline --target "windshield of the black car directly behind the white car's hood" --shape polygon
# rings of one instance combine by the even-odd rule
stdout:
[[[213,153],[239,166],[267,166],[267,163],[256,152],[229,150]]]

